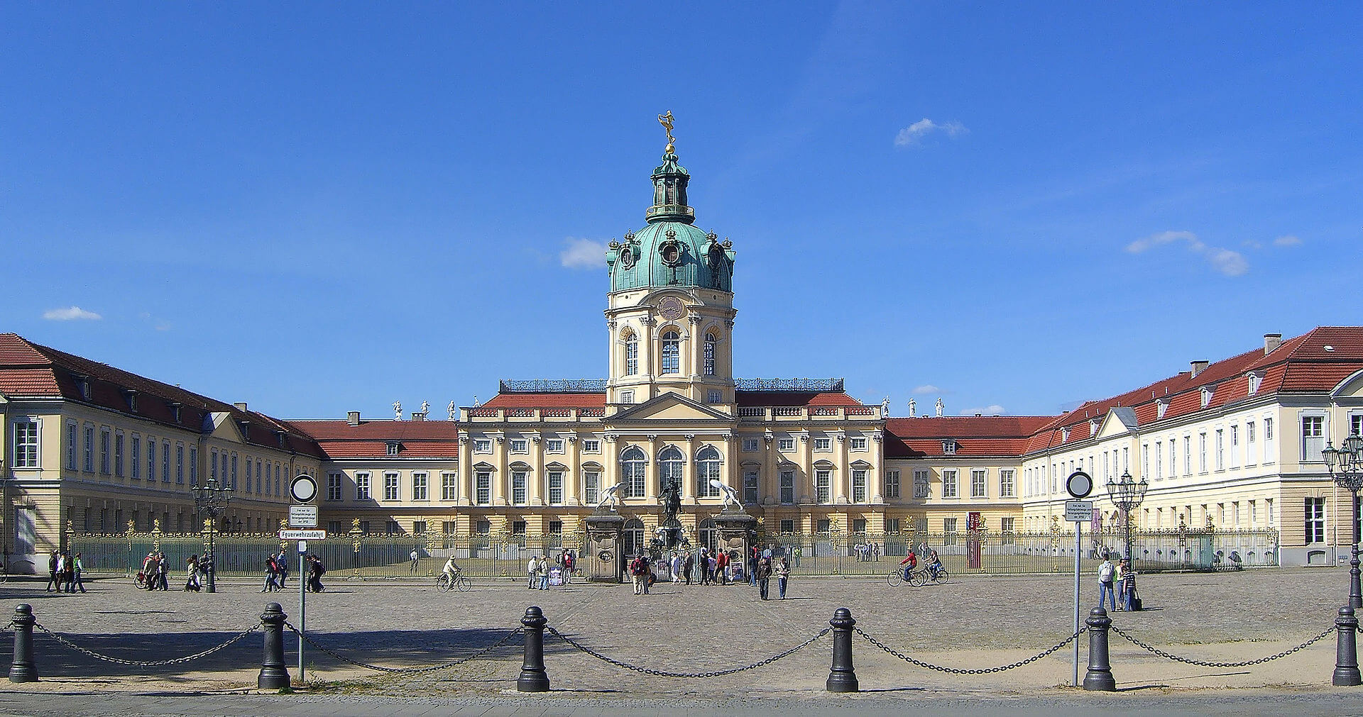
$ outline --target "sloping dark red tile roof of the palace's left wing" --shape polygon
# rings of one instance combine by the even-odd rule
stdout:
[[[78,376],[89,377],[89,400],[78,388]],[[129,392],[136,393],[136,411],[131,410]],[[241,411],[233,404],[35,344],[15,333],[0,333],[0,393],[12,399],[63,397],[194,433],[203,433],[210,414],[228,414],[239,429],[245,424],[248,444],[322,456],[311,438],[290,431],[288,424],[264,414]],[[179,420],[172,404],[180,404]],[[284,431],[284,435],[275,431]]]

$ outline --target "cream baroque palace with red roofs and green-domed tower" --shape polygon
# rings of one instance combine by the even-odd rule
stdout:
[[[0,335],[5,550],[196,531],[189,486],[209,478],[234,488],[222,529],[267,533],[297,473],[318,478],[333,533],[579,533],[615,487],[631,551],[676,482],[692,540],[721,486],[769,535],[1040,535],[1084,469],[1099,525],[1122,520],[1104,484],[1129,473],[1149,484],[1142,531],[1268,532],[1257,558],[1283,565],[1334,563],[1352,539],[1359,512],[1321,452],[1363,431],[1363,327],[1268,335],[1059,416],[947,416],[939,400],[890,418],[841,380],[735,378],[736,250],[695,227],[688,182],[669,133],[646,226],[607,250],[605,378],[502,381],[447,420],[277,419]]]

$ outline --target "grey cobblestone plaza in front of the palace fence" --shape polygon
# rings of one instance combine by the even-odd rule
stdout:
[[[890,563],[886,563],[886,570]],[[1150,610],[1115,614],[1133,635],[1175,654],[1213,661],[1269,656],[1332,624],[1344,597],[1341,570],[1284,569],[1221,574],[1146,576]],[[1085,580],[1084,603],[1096,590]],[[225,581],[217,595],[147,593],[125,578],[93,581],[87,595],[42,592],[41,582],[0,585],[5,611],[26,601],[38,622],[72,642],[125,660],[164,660],[221,644],[252,626],[267,601],[298,623],[297,595],[262,595],[255,582]],[[480,581],[468,593],[439,593],[427,580],[333,580],[308,596],[307,627],[319,644],[384,667],[420,668],[477,652],[518,626],[527,605],[549,624],[601,653],[645,668],[707,672],[761,661],[827,626],[837,607],[857,626],[919,660],[988,668],[1036,654],[1071,634],[1071,576],[968,577],[949,585],[889,588],[868,578],[792,581],[785,601],[761,601],[736,586],[657,584],[652,595],[628,586],[568,585],[530,592],[519,581]],[[7,635],[8,637],[8,635]],[[1081,660],[1086,660],[1086,638]],[[209,657],[166,668],[95,661],[35,638],[44,682],[19,690],[204,691],[255,686],[260,638],[248,635]],[[294,638],[286,638],[294,672]],[[1250,668],[1214,669],[1171,663],[1115,634],[1112,665],[1119,690],[1150,694],[1220,687],[1334,691],[1329,637],[1299,653]],[[0,658],[10,658],[4,639]],[[908,665],[861,638],[853,642],[861,688],[879,697],[1060,694],[1071,678],[1069,646],[1029,665],[991,675],[947,675]],[[556,695],[686,699],[826,698],[830,641],[823,637],[774,664],[735,675],[679,679],[647,676],[582,654],[547,635],[545,663]],[[518,639],[487,658],[429,672],[378,673],[308,650],[308,687],[330,695],[476,697],[514,694]],[[297,675],[294,673],[294,679]],[[1201,694],[1201,693],[1199,693]],[[521,697],[517,695],[519,699]],[[838,698],[845,699],[845,698]],[[544,702],[538,702],[544,703]],[[822,702],[821,702],[822,703]],[[1363,699],[1359,706],[1363,707]],[[552,709],[551,709],[552,712]]]

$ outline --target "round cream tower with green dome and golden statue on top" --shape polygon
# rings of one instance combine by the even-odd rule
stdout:
[[[732,412],[733,242],[695,227],[687,205],[691,176],[677,163],[672,113],[658,121],[668,144],[652,174],[647,224],[607,249],[607,403],[645,403],[672,392]]]

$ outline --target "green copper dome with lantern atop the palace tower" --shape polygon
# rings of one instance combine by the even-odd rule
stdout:
[[[612,241],[605,252],[611,291],[668,286],[733,291],[733,242],[692,224],[695,215],[686,204],[690,178],[668,144],[662,165],[653,170],[649,224]]]

